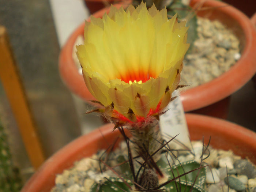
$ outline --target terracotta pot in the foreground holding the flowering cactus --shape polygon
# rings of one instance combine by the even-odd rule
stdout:
[[[243,158],[256,163],[256,133],[213,117],[186,114],[192,140],[202,140],[223,150],[232,150]],[[106,124],[88,135],[80,136],[50,157],[30,178],[21,192],[48,192],[54,186],[56,174],[62,173],[83,157],[90,157],[98,149],[107,148],[117,137],[121,137],[113,124]],[[104,135],[104,138],[102,137]]]

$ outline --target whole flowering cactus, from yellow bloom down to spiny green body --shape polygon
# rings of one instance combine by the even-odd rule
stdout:
[[[84,45],[77,46],[85,83],[102,106],[87,113],[101,113],[113,122],[128,151],[127,156],[105,153],[105,161],[99,159],[104,174],[98,173],[100,179],[91,192],[203,191],[202,162],[173,164],[169,158],[176,157],[168,144],[174,138],[165,143],[159,127],[159,116],[175,99],[173,91],[182,87],[178,83],[189,48],[188,27],[176,16],[167,19],[166,12],[181,6],[179,1],[162,11],[157,8],[169,1],[156,0],[157,7],[147,9],[153,4],[148,2],[136,8],[130,5],[126,11],[111,7],[102,19],[91,17],[85,25]],[[112,164],[112,159],[118,162]]]

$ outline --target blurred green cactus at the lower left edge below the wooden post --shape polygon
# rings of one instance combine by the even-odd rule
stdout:
[[[22,187],[19,169],[14,167],[11,160],[7,135],[0,122],[0,191],[18,192]]]

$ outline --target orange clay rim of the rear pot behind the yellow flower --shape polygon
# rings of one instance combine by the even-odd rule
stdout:
[[[195,4],[199,1],[200,0],[192,0],[192,3]],[[121,7],[121,5],[125,7],[127,4],[114,4],[114,6],[118,8]],[[210,82],[193,87],[181,93],[180,98],[186,112],[203,108],[226,98],[240,89],[256,72],[256,46],[254,46],[256,44],[256,31],[249,18],[236,8],[227,6],[226,3],[220,1],[208,0],[204,3],[204,6],[219,7],[218,9],[236,19],[245,34],[245,46],[240,60],[238,60],[229,71]],[[109,7],[95,12],[93,15],[99,17],[108,11]],[[88,21],[90,21],[90,19],[88,19]],[[72,54],[70,54],[72,53],[77,36],[83,34],[83,28],[84,23],[74,31],[67,43],[63,46],[59,57],[59,69],[64,83],[67,84],[69,89],[88,102],[90,100],[95,100],[95,98],[85,86],[83,76],[78,73],[72,59]]]

